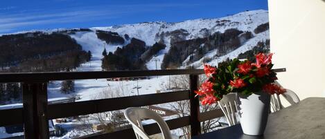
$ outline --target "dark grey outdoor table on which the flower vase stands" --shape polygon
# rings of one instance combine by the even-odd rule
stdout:
[[[263,136],[245,135],[232,127],[194,136],[193,139],[325,139],[325,98],[306,98],[298,104],[270,113]]]

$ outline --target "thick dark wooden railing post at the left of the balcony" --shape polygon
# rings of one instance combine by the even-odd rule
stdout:
[[[26,139],[48,139],[47,83],[26,83],[23,86],[24,133]]]

